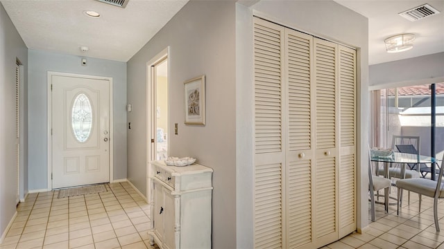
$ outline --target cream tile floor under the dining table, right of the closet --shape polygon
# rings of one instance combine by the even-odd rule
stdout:
[[[391,189],[391,196],[396,198],[396,190]],[[396,205],[390,205],[388,214],[384,205],[376,205],[375,222],[369,221],[364,234],[353,233],[331,243],[324,248],[439,248],[444,249],[444,203],[438,203],[440,232],[436,232],[433,216],[433,199],[422,196],[419,212],[418,194],[411,193],[410,205],[407,203],[407,191],[404,191],[403,208],[396,215]],[[381,201],[384,199],[382,198]],[[396,199],[391,202],[396,202]],[[369,203],[370,206],[370,203]],[[370,217],[370,212],[368,214]]]

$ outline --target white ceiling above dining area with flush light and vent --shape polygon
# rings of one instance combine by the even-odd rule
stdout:
[[[444,1],[416,0],[334,0],[368,17],[369,64],[391,62],[444,51]],[[409,21],[398,13],[429,3],[438,15]],[[384,39],[401,33],[413,33],[413,49],[402,53],[386,53]]]

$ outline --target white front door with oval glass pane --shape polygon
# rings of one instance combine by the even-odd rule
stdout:
[[[52,75],[52,188],[110,181],[110,81]]]

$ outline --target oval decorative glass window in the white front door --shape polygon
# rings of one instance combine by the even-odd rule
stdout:
[[[85,142],[92,129],[91,102],[85,93],[79,93],[71,111],[71,127],[78,142]]]

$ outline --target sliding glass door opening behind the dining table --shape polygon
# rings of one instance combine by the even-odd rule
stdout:
[[[444,136],[444,84],[400,86],[370,94],[370,147],[395,149],[395,136],[418,136],[418,154],[432,156],[437,162],[424,170],[421,166],[421,175],[434,180],[444,153],[444,141],[439,139]]]

